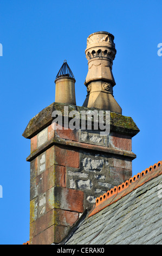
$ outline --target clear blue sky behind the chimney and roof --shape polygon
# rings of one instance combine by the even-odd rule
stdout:
[[[161,7],[160,0],[0,0],[0,244],[29,240],[30,140],[22,133],[55,101],[54,80],[64,59],[82,106],[89,34],[115,36],[114,97],[140,129],[132,139],[133,175],[161,160]]]

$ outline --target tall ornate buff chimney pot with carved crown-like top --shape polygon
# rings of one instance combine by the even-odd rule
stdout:
[[[103,31],[90,34],[87,38],[88,74],[85,85],[88,94],[83,106],[121,114],[122,109],[113,96],[115,80],[112,65],[116,54],[113,40],[111,33]]]

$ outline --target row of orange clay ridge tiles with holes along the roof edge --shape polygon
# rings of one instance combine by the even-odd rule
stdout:
[[[108,205],[115,203],[120,198],[126,196],[126,194],[131,193],[136,188],[142,186],[147,181],[162,174],[162,168],[159,169],[160,166],[162,167],[162,161],[153,164],[153,166],[150,166],[149,168],[143,170],[141,173],[134,175],[129,180],[126,180],[120,184],[118,187],[115,186],[100,197],[97,197],[94,208],[92,211],[90,211],[88,217],[93,216],[102,209],[106,208]]]

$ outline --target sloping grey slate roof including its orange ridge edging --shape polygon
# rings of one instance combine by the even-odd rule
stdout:
[[[161,174],[159,161],[135,175],[134,181],[131,178],[123,190],[118,186],[106,199],[101,196],[101,202],[96,199],[94,208],[81,217],[61,244],[162,245]]]

